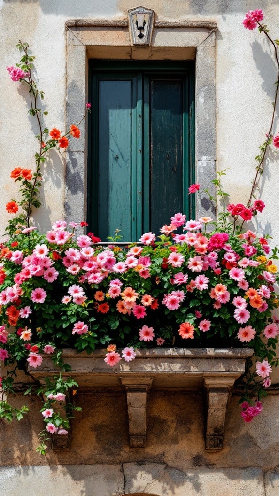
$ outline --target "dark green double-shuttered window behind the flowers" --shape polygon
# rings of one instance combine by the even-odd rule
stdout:
[[[193,216],[193,76],[192,62],[90,61],[87,222],[102,241]]]

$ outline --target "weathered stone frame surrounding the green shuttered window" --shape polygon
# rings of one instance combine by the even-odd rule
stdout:
[[[155,20],[149,47],[133,46],[128,20],[66,22],[67,89],[66,125],[80,120],[87,103],[88,59],[195,60],[195,181],[215,194],[216,98],[215,32],[211,21]],[[67,151],[65,215],[68,222],[86,219],[87,123],[81,137]],[[196,216],[215,218],[215,210],[202,191],[196,195]]]

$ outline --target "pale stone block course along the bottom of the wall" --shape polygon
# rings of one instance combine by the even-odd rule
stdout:
[[[190,469],[164,463],[0,467],[4,496],[278,496],[279,475],[260,468]]]

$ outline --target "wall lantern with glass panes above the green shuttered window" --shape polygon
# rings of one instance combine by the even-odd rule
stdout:
[[[154,10],[145,7],[128,10],[131,40],[133,45],[150,45],[154,22]]]

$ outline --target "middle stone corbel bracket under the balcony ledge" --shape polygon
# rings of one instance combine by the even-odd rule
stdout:
[[[147,375],[120,376],[120,380],[125,386],[127,395],[130,446],[143,448],[146,445],[147,391],[151,387],[153,378]]]

